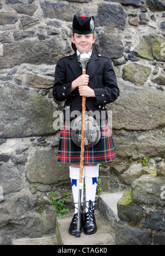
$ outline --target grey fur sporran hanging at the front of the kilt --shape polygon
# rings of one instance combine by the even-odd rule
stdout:
[[[77,146],[81,146],[81,116],[71,122],[71,137]],[[94,117],[85,115],[85,138],[84,148],[95,146],[100,140],[100,128]]]

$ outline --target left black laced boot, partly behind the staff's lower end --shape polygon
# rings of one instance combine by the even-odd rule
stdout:
[[[83,206],[81,205],[81,214],[80,214],[80,232],[83,230],[84,225],[84,214],[83,214]],[[69,226],[70,235],[75,235],[78,226],[78,213],[74,214],[73,219]]]

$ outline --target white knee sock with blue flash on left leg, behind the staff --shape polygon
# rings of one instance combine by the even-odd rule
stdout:
[[[73,200],[75,204],[75,214],[78,213],[78,202],[79,202],[79,179],[80,179],[80,168],[69,166],[69,177],[72,184]],[[84,170],[83,170],[83,187],[84,187]],[[83,203],[83,188],[81,191],[81,203]]]

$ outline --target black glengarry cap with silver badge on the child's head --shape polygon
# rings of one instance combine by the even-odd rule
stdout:
[[[82,15],[78,17],[74,15],[73,18],[73,32],[79,35],[86,35],[94,33],[95,31],[95,19],[93,16],[85,17]]]

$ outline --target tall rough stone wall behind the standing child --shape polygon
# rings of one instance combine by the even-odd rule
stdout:
[[[139,158],[164,155],[164,1],[0,0],[0,244],[53,236],[48,193],[70,191],[52,86],[57,59],[73,53],[74,14],[96,17],[93,50],[112,58],[120,88],[108,105],[118,160],[103,166],[103,189],[127,189]]]

